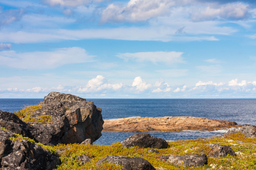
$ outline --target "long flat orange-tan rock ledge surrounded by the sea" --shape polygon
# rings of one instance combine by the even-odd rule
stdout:
[[[122,132],[218,130],[238,126],[236,122],[190,116],[138,116],[104,120],[103,130]]]

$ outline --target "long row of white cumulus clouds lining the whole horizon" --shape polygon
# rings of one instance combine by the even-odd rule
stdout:
[[[170,86],[163,79],[156,81],[154,84],[147,83],[141,77],[135,77],[134,81],[130,85],[123,85],[120,83],[111,83],[108,79],[102,75],[90,79],[87,85],[84,87],[78,86],[65,86],[58,85],[56,87],[39,87],[35,86],[28,89],[20,88],[7,88],[1,90],[1,94],[48,94],[50,91],[59,91],[63,93],[72,94],[86,94],[89,96],[98,96],[102,98],[112,96],[134,96],[141,98],[154,96],[161,98],[162,96],[173,97],[188,97],[188,98],[232,98],[242,97],[251,98],[256,95],[256,81],[247,82],[242,80],[238,82],[238,79],[232,79],[228,83],[226,82],[203,82],[198,81],[194,86]],[[37,95],[37,96],[38,96]]]

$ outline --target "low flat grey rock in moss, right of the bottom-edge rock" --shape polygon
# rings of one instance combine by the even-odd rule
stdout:
[[[204,164],[207,164],[207,156],[205,154],[202,155],[164,155],[160,158],[162,161],[168,161],[171,164],[176,166],[184,166],[184,167],[200,167]]]

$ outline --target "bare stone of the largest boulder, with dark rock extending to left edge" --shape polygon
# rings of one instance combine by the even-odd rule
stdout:
[[[13,133],[34,139],[42,144],[81,143],[86,139],[96,141],[102,136],[101,108],[93,102],[71,94],[51,92],[32,111],[31,117],[52,116],[49,123],[25,123],[9,112],[0,112],[0,125]]]

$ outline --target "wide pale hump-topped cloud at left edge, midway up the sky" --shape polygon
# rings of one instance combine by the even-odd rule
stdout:
[[[54,51],[26,53],[0,51],[0,65],[22,69],[48,69],[71,63],[92,62],[93,57],[80,47],[57,48]]]

